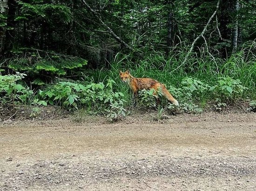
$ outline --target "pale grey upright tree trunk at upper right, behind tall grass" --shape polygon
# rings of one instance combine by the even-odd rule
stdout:
[[[236,14],[234,19],[234,27],[232,30],[232,52],[237,50],[237,39],[238,39],[238,10],[239,10],[239,0],[236,0],[234,5],[234,12]]]

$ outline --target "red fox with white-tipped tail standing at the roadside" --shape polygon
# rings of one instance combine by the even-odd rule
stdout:
[[[130,75],[130,71],[126,72],[119,71],[119,75],[123,82],[127,82],[132,89],[133,93],[136,95],[138,90],[141,89],[155,89],[156,92],[159,88],[162,89],[162,94],[168,99],[168,101],[172,102],[172,104],[178,106],[179,102],[175,100],[175,98],[168,92],[165,86],[162,83],[157,82],[151,78],[136,78]]]

